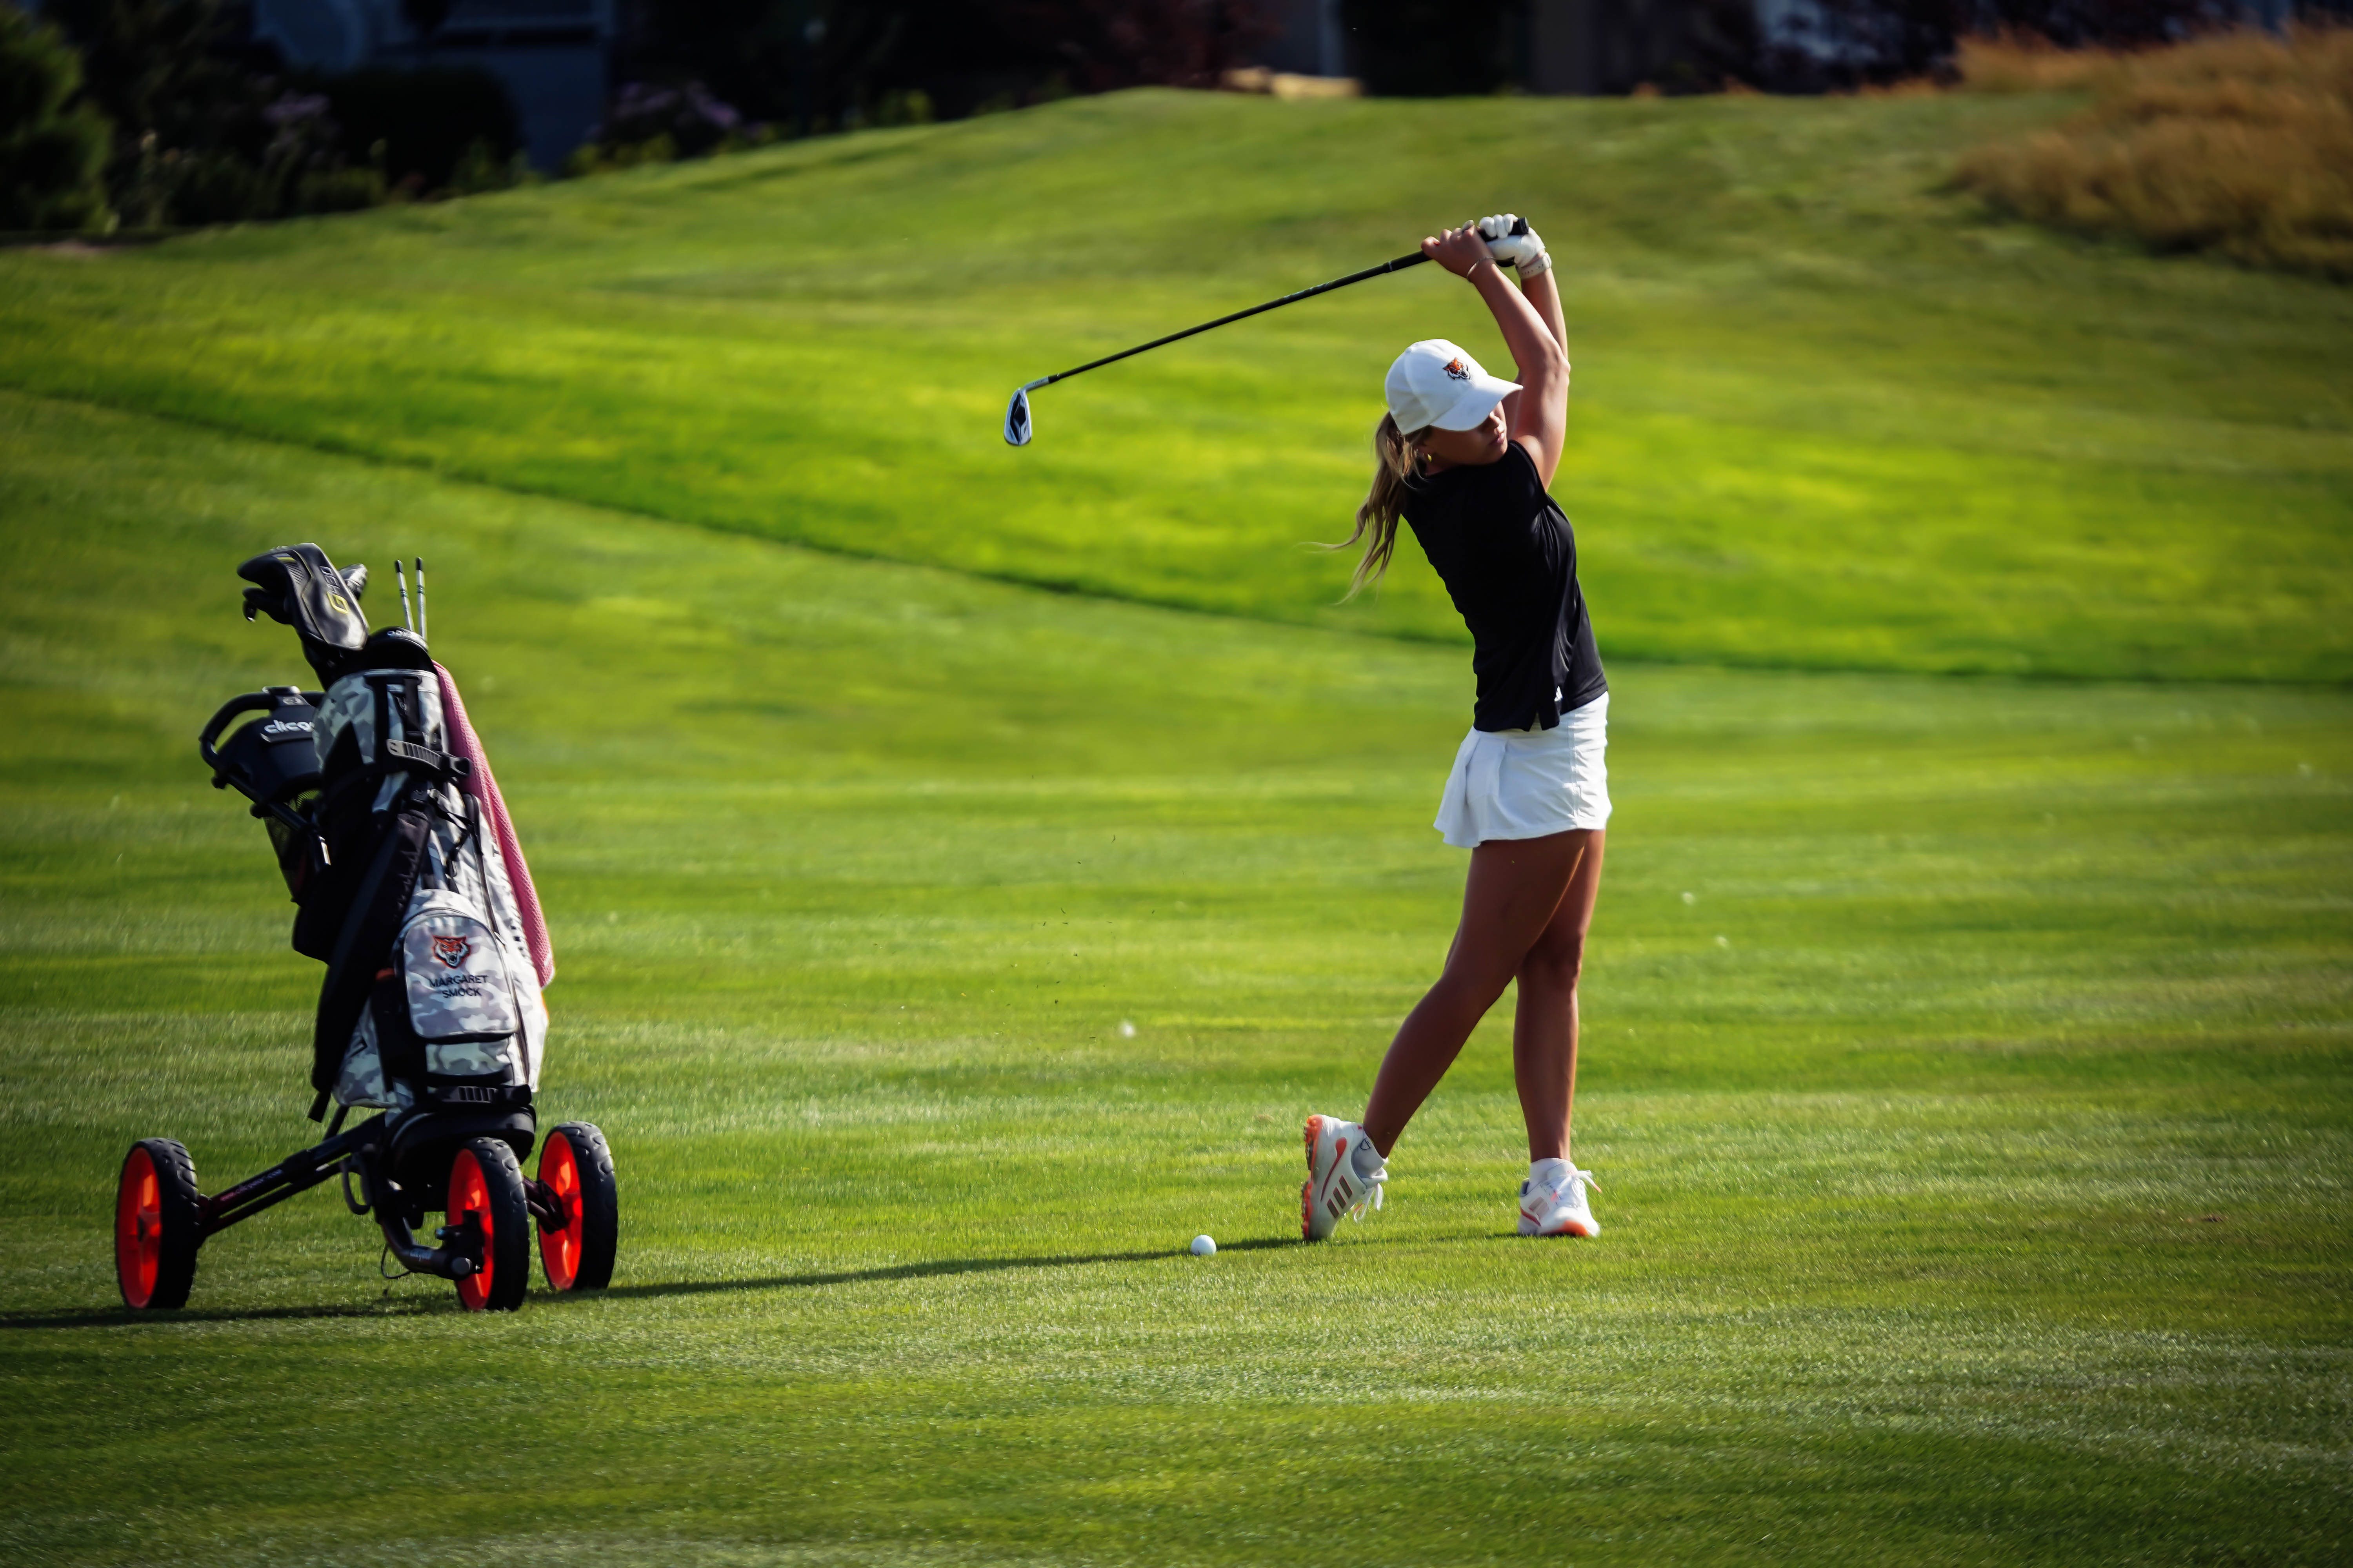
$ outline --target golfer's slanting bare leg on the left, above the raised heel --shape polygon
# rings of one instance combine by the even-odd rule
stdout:
[[[1405,1016],[1365,1105],[1365,1133],[1381,1154],[1395,1147],[1471,1030],[1551,926],[1591,837],[1595,835],[1555,832],[1544,839],[1489,839],[1471,851],[1464,919],[1454,929],[1447,969]]]

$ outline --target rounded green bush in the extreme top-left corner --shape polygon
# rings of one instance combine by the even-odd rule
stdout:
[[[0,0],[0,228],[108,228],[113,129],[87,103],[56,28]]]

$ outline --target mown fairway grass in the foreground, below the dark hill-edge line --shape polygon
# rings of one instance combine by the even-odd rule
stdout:
[[[520,489],[0,393],[7,1561],[2344,1559],[2346,691],[1619,658],[1605,1234],[1511,1237],[1499,1009],[1304,1248],[1459,898],[1459,649]],[[431,562],[607,1293],[466,1316],[320,1190],[111,1305],[132,1138],[313,1133],[193,755],[304,677],[231,576],[289,538]]]

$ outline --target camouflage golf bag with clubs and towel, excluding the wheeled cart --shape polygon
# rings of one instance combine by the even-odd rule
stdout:
[[[480,743],[461,726],[456,684],[407,628],[365,630],[351,609],[365,569],[341,574],[318,545],[294,545],[238,574],[254,583],[247,614],[294,625],[327,684],[273,689],[271,717],[228,752],[214,752],[216,729],[205,743],[214,776],[271,823],[299,905],[294,950],[327,964],[311,1086],[344,1107],[461,1112],[468,1133],[527,1154],[548,1013],[504,804],[487,762],[475,778]]]

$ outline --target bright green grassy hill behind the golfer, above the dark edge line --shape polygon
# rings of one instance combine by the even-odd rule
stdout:
[[[0,383],[906,562],[1334,609],[1379,374],[1435,270],[1031,376],[1511,207],[1562,259],[1558,484],[1614,656],[2353,675],[2353,294],[1939,195],[2049,96],[1120,94],[153,252],[0,256]],[[1412,555],[1412,552],[1407,552]]]

